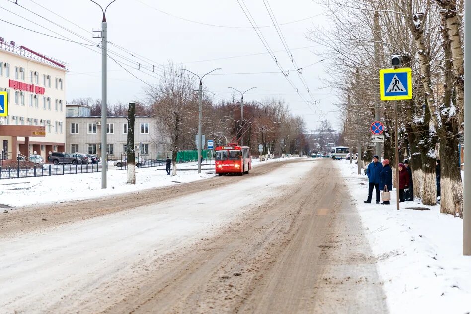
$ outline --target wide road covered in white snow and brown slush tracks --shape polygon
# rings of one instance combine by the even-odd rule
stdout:
[[[332,161],[131,195],[1,216],[0,313],[387,312]]]

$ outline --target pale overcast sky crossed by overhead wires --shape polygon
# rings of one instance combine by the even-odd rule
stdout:
[[[102,6],[106,6],[110,1],[96,0]],[[237,0],[117,0],[106,12],[108,41],[127,51],[108,44],[109,53],[129,72],[152,85],[158,82],[162,65],[170,61],[182,64],[188,70],[199,74],[214,68],[223,68],[203,80],[204,88],[216,100],[231,98],[232,90],[228,87],[242,91],[257,87],[245,94],[245,101],[261,101],[266,97],[281,96],[289,104],[293,114],[305,118],[308,129],[317,127],[319,120],[324,117],[331,120],[334,127],[338,128],[337,114],[332,112],[336,110],[332,105],[336,102],[335,92],[329,88],[322,88],[325,87],[322,81],[326,76],[324,66],[322,63],[314,64],[322,59],[316,55],[322,48],[306,38],[308,30],[313,25],[328,27],[329,22],[322,14],[322,7],[311,0],[265,0],[278,24],[305,19],[280,26],[281,34],[293,55],[296,67],[273,27],[263,0],[244,2],[239,0],[239,2],[242,6],[244,2],[247,5],[248,11],[244,7],[245,13],[251,14],[261,27],[268,49],[274,51],[273,54],[267,53],[267,49],[251,27]],[[83,44],[97,45],[100,42],[100,39],[92,38],[91,31],[101,27],[102,13],[96,4],[89,0],[18,0],[18,4],[24,8],[8,0],[1,1],[1,19]],[[4,37],[5,41],[14,40],[17,45],[24,45],[69,64],[66,77],[67,100],[78,97],[101,98],[100,48],[84,47],[77,43],[47,37],[2,21],[0,25],[0,36]],[[135,56],[133,57],[131,53]],[[286,71],[286,74],[290,70],[287,77],[280,72],[272,56],[276,57],[278,65]],[[141,63],[140,71],[139,63]],[[310,94],[296,73],[296,68],[303,68],[301,78],[309,88]],[[236,74],[253,72],[277,73]],[[295,87],[291,86],[287,78]],[[127,103],[145,99],[143,95],[145,84],[139,79],[108,59],[108,102]],[[307,100],[310,101],[309,105],[306,103]],[[314,100],[317,101],[315,104]]]

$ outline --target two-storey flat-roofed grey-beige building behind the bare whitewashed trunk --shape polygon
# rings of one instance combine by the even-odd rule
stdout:
[[[76,105],[71,105],[75,108]],[[69,108],[69,105],[68,105]],[[72,113],[72,111],[70,111]],[[108,116],[107,152],[109,160],[121,159],[127,149],[127,116]],[[66,152],[88,153],[101,156],[101,116],[66,116]],[[165,158],[165,144],[157,139],[153,116],[136,116],[134,125],[134,148],[136,155],[146,159]]]

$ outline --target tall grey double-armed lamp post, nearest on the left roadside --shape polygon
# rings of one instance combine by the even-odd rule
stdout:
[[[111,1],[106,8],[103,10],[101,5],[96,3],[93,0],[91,2],[98,5],[103,13],[103,19],[101,20],[101,188],[106,189],[106,170],[108,167],[108,154],[106,151],[107,143],[106,143],[106,113],[107,113],[107,99],[106,99],[106,57],[107,57],[107,50],[106,50],[106,42],[107,42],[107,35],[106,35],[106,10],[116,0]],[[104,152],[104,154],[103,154]]]

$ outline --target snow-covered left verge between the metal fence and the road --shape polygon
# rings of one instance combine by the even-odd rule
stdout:
[[[252,166],[266,162],[283,162],[293,158],[270,159],[259,162],[252,159]],[[212,172],[209,161],[203,161],[200,174],[195,170],[179,171],[179,169],[196,169],[196,162],[177,164],[177,175],[166,175],[165,166],[136,168],[136,185],[127,184],[127,170],[108,163],[107,188],[101,188],[101,172],[42,176],[19,179],[0,180],[0,204],[11,207],[83,200],[106,195],[152,189],[180,183],[202,180],[214,176],[214,160]],[[156,171],[157,170],[157,171]]]

